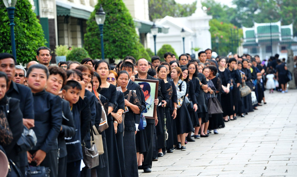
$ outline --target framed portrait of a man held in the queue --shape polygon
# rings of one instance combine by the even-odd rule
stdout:
[[[157,106],[154,104],[154,100],[158,97],[159,80],[135,78],[134,82],[140,86],[145,96],[146,108],[142,114],[145,118],[155,119]]]

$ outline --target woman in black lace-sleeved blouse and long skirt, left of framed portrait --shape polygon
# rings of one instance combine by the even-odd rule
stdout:
[[[125,176],[138,176],[137,157],[135,134],[136,124],[134,117],[139,116],[141,113],[141,103],[136,93],[127,89],[129,82],[129,74],[127,71],[122,70],[118,72],[117,84],[121,87],[125,97],[125,118],[124,122],[124,157],[125,157]],[[129,99],[129,101],[128,101]],[[127,110],[126,110],[127,109]]]

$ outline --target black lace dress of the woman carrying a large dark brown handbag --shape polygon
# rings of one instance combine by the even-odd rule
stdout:
[[[211,81],[217,91],[220,91],[222,89],[222,83],[220,78],[215,77]],[[216,94],[216,98],[221,102],[221,92],[218,92]],[[223,114],[212,114],[212,116],[209,118],[208,129],[214,130],[214,129],[224,128],[224,127],[225,127],[225,123],[223,119]]]

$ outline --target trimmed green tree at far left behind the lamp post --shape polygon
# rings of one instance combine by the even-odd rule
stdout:
[[[27,63],[36,59],[36,50],[40,46],[45,46],[46,39],[31,3],[28,0],[17,1],[15,8],[14,34],[17,63]],[[0,53],[12,53],[9,23],[4,3],[0,1]]]

